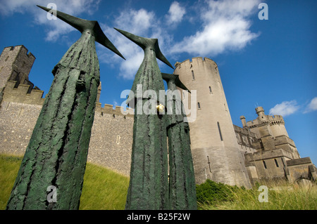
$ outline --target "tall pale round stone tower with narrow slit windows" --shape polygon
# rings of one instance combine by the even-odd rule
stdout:
[[[176,62],[174,74],[192,94],[182,92],[182,100],[191,114],[197,110],[196,119],[189,120],[190,140],[196,183],[208,178],[229,185],[250,187],[232,125],[218,66],[209,58],[192,58]],[[197,90],[197,105],[191,107],[191,96]],[[188,100],[188,103],[187,103]]]

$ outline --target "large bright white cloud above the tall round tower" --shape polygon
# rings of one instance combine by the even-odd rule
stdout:
[[[201,30],[174,44],[173,53],[214,56],[225,50],[244,48],[259,36],[249,28],[250,15],[256,12],[259,0],[208,1],[200,6]],[[198,19],[198,18],[197,18]]]

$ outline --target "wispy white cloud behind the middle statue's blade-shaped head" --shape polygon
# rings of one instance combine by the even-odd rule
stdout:
[[[120,15],[115,18],[114,27],[123,29],[137,36],[159,39],[159,46],[164,54],[167,49],[166,43],[170,41],[170,37],[164,29],[161,29],[160,23],[161,21],[156,18],[154,12],[147,11],[144,8],[139,10],[130,8],[121,11]],[[124,79],[134,79],[139,65],[141,65],[144,58],[144,51],[137,46],[137,44],[124,37],[112,27],[101,24],[101,28],[126,60],[118,58],[118,56],[113,55],[110,51],[101,50],[101,48],[97,46],[99,60],[107,63],[119,63],[119,76]],[[109,60],[109,58],[111,58],[111,60]]]

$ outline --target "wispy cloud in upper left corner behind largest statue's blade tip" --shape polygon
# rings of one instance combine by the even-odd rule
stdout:
[[[84,12],[91,15],[97,11],[100,0],[4,0],[0,4],[0,13],[5,16],[13,13],[32,13],[35,22],[46,25],[46,41],[56,41],[61,35],[75,29],[61,20],[48,20],[47,13],[36,6],[46,7],[49,3],[56,4],[58,11],[77,16]]]

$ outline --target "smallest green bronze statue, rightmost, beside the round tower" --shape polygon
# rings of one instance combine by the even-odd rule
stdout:
[[[188,89],[176,74],[162,73],[162,77],[168,84],[166,107],[170,110],[167,114],[170,209],[197,209],[189,124],[185,122],[186,114],[176,86]]]

